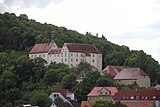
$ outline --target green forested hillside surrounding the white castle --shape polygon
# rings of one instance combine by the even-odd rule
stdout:
[[[69,71],[76,71],[75,69],[71,70],[65,65],[63,67],[61,65],[64,69],[56,70],[57,67],[60,67],[56,64],[53,64],[50,68],[45,68],[43,66],[45,61],[42,59],[30,60],[28,58],[28,53],[35,43],[50,42],[52,35],[54,35],[58,47],[62,47],[66,42],[95,44],[103,54],[103,68],[106,65],[139,67],[151,77],[152,84],[158,82],[160,78],[159,63],[143,51],[133,51],[127,46],[111,43],[103,35],[97,34],[94,36],[89,32],[83,35],[65,27],[57,27],[47,23],[42,24],[6,12],[0,14],[0,104],[7,103],[13,106],[15,103],[19,104],[24,100],[32,102],[34,98],[29,99],[29,95],[31,96],[35,90],[38,90],[36,93],[41,93],[39,91],[48,89],[47,85],[51,87],[59,84],[64,88],[70,88],[76,93],[80,93],[82,95],[80,99],[84,99],[83,94],[87,94],[91,87],[79,91],[78,89],[82,84],[73,82],[73,86],[76,84],[76,87],[66,86],[65,82],[68,77],[63,78],[67,74],[75,77],[74,74],[69,73]],[[60,71],[61,73],[59,73]],[[52,79],[51,76],[56,74],[59,78]],[[91,74],[88,75],[93,79]],[[95,78],[100,78],[100,75],[97,74]],[[91,85],[93,87],[96,79],[92,81],[90,78],[86,78],[84,84],[87,84],[85,81],[89,80],[93,83]],[[45,96],[45,94],[41,96]]]

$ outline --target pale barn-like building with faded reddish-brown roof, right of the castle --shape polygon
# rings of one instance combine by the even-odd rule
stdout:
[[[151,84],[150,77],[140,68],[125,68],[122,69],[115,77],[121,84],[137,84],[139,87],[149,88]]]

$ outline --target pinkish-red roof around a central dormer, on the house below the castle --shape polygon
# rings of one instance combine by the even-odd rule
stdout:
[[[99,94],[99,91],[102,89],[106,89],[110,91],[110,94]],[[92,91],[87,95],[88,97],[90,96],[114,96],[114,94],[118,92],[116,87],[94,87]]]

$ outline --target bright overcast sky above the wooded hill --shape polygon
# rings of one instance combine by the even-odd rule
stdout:
[[[160,62],[160,0],[0,0],[0,12],[102,34]]]

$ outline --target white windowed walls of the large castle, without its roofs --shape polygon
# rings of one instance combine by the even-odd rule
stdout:
[[[97,68],[98,71],[102,71],[102,54],[100,53],[84,53],[84,52],[72,52],[67,48],[67,44],[64,44],[61,51],[51,52],[52,50],[60,49],[55,43],[52,43],[51,48],[45,53],[30,53],[29,57],[34,59],[41,57],[47,61],[48,64],[51,62],[64,63],[69,67],[76,67],[80,62],[87,62],[91,66]]]

